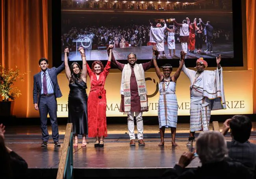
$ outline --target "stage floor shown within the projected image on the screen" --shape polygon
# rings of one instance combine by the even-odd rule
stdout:
[[[159,59],[180,59],[180,50],[181,44],[175,44],[176,52],[175,55],[169,56],[168,45],[165,44],[165,57],[159,57]],[[194,53],[188,52],[186,58],[198,59],[200,57],[203,58],[215,58],[221,54],[223,58],[233,58],[234,51],[233,43],[227,42],[225,44],[213,44],[213,52],[204,52],[206,50],[206,44],[202,45],[202,53],[197,54],[196,49]],[[130,53],[134,53],[137,55],[137,59],[152,59],[152,46],[141,46],[141,47],[126,47],[126,48],[114,48],[113,54],[116,60],[127,60],[127,55]],[[172,50],[173,53],[173,50]],[[69,52],[70,61],[81,61],[80,53],[75,50]],[[61,60],[64,60],[64,53],[61,54]],[[86,60],[108,60],[108,52],[107,50],[91,50],[86,51]]]

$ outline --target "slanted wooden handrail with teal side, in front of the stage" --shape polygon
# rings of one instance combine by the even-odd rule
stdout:
[[[61,157],[59,160],[59,168],[57,179],[72,179],[73,178],[73,136],[72,123],[67,124],[64,137]]]

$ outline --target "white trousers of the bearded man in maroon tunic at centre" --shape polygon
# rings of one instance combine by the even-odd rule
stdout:
[[[143,139],[143,119],[142,112],[135,112],[136,122],[137,122],[137,132],[138,139]],[[128,114],[128,131],[130,140],[135,139],[134,134],[134,112],[131,111],[131,114]]]

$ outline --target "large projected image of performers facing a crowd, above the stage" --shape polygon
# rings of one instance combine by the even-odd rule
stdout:
[[[170,14],[63,14],[62,20],[69,23],[61,27],[62,47],[69,46],[70,61],[81,60],[79,46],[85,49],[88,61],[106,60],[109,44],[114,45],[113,54],[118,60],[127,60],[130,52],[137,54],[138,60],[148,60],[152,45],[160,49],[159,59],[180,59],[175,50],[183,50],[187,59],[215,59],[219,54],[232,59],[232,10],[214,8],[200,13],[192,8]],[[182,13],[183,10],[189,13]]]

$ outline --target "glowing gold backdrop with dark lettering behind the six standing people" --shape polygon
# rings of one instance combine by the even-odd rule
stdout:
[[[121,94],[120,83],[121,73],[110,73],[106,79],[105,89],[107,91],[107,116],[124,116],[119,112]],[[252,113],[252,71],[232,71],[223,72],[224,93],[226,97],[227,109],[212,111],[211,114],[251,114]],[[146,72],[145,79],[148,90],[149,111],[143,116],[158,115],[158,83],[159,79],[155,72]],[[242,81],[242,82],[241,82]],[[69,95],[69,83],[65,74],[58,75],[58,82],[63,96],[58,98],[58,116],[67,117],[67,101]],[[182,72],[176,85],[176,95],[178,100],[178,115],[189,115],[189,79]],[[87,78],[87,94],[90,91],[90,79]]]

